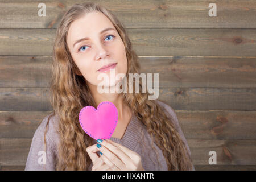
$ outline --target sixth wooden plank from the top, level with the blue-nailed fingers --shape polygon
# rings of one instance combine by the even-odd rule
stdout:
[[[2,166],[26,165],[32,139],[0,139]],[[256,140],[187,139],[194,165],[209,165],[209,151],[216,151],[218,165],[256,165]],[[225,152],[228,150],[230,156]],[[4,156],[4,157],[3,157]]]

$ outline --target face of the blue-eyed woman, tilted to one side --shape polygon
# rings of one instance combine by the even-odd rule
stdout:
[[[103,31],[106,28],[112,28]],[[87,38],[86,40],[81,40]],[[112,22],[101,12],[92,12],[71,23],[68,30],[67,44],[71,56],[80,73],[90,85],[98,86],[102,82],[101,74],[107,74],[112,79],[108,86],[117,84],[115,76],[118,73],[127,72],[127,57],[125,45],[122,42]],[[117,63],[112,71],[114,77],[110,77],[110,70],[100,72],[98,69],[110,63]],[[114,80],[114,81],[113,81]]]

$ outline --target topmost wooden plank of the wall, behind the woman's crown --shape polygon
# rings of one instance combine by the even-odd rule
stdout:
[[[38,16],[41,1],[3,0],[0,3],[0,26],[3,28],[56,28],[72,1],[43,1],[46,16]],[[254,0],[214,1],[217,16],[208,15],[207,0],[138,0],[93,1],[113,11],[127,28],[256,28]],[[251,22],[251,23],[248,23]]]

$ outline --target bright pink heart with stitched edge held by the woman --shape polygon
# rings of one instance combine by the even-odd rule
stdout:
[[[86,106],[80,110],[79,122],[82,129],[93,139],[110,139],[118,121],[118,110],[112,102],[101,102],[97,110]]]

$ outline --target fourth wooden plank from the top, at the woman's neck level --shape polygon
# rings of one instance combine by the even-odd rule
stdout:
[[[159,88],[158,99],[175,110],[255,110],[256,88]],[[52,110],[49,88],[0,88],[0,100],[2,111]]]

